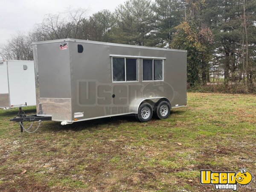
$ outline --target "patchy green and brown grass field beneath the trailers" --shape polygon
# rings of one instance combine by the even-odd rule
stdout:
[[[16,113],[0,110],[0,191],[209,191],[201,169],[256,176],[255,95],[188,93],[168,119],[43,122],[34,134],[9,122]]]

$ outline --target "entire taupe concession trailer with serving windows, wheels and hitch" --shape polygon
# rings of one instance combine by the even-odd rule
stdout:
[[[13,121],[146,122],[187,103],[186,50],[60,39],[35,42],[33,52],[37,114]]]

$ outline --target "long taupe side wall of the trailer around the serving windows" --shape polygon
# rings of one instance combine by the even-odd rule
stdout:
[[[166,97],[173,108],[186,105],[186,52],[82,42],[69,44],[73,119],[134,113],[131,106],[141,98]],[[84,47],[82,53],[77,50],[79,44]],[[113,82],[111,55],[137,58],[137,81]],[[143,58],[151,57],[166,58],[163,81],[143,81]]]

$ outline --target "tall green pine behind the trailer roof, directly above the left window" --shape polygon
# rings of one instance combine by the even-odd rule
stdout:
[[[116,28],[113,41],[124,44],[148,45],[153,29],[154,12],[151,0],[129,0],[115,10]]]

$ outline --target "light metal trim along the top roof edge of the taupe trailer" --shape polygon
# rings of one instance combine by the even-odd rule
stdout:
[[[101,42],[101,41],[89,41],[89,40],[71,39],[71,38],[48,40],[48,41],[36,41],[36,42],[33,42],[32,45],[58,43],[58,42],[61,43],[63,41],[81,42],[81,43],[89,43],[89,44],[101,44],[101,45],[112,45],[112,46],[120,46],[120,47],[133,47],[133,48],[143,48],[143,49],[157,49],[157,50],[165,50],[165,51],[187,52],[187,50],[182,50],[182,49],[167,49],[167,48],[160,48],[160,47],[146,47],[146,46],[139,46],[139,45],[116,44],[116,43],[108,43],[108,42]]]

